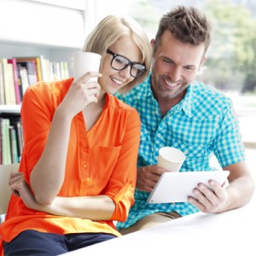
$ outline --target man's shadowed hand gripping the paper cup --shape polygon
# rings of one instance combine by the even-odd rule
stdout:
[[[150,193],[164,172],[168,171],[156,165],[137,168],[136,188]]]

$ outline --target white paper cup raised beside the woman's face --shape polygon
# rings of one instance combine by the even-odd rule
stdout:
[[[79,52],[73,55],[73,76],[77,81],[87,72],[99,72],[102,55],[93,52]],[[91,78],[89,82],[97,81],[97,78]]]

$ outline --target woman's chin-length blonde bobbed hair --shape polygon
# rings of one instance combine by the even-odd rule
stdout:
[[[133,79],[129,84],[121,88],[119,91],[122,93],[131,90],[133,86],[143,82],[143,79],[147,77],[150,70],[152,47],[142,26],[136,20],[127,16],[108,15],[90,32],[82,49],[82,51],[102,55],[102,61],[104,61],[106,50],[115,44],[119,38],[125,36],[130,36],[134,43],[137,44],[143,56],[142,63],[147,67],[147,70],[141,77]]]

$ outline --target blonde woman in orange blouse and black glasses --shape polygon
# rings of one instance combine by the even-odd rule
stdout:
[[[135,20],[109,15],[83,51],[102,55],[102,74],[26,90],[16,195],[0,228],[6,255],[57,255],[120,236],[113,221],[133,205],[140,119],[112,94],[147,76],[151,47]]]

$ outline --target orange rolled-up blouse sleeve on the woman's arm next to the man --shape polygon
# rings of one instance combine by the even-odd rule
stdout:
[[[114,220],[125,221],[134,204],[140,127],[139,115],[137,110],[133,109],[126,121],[119,159],[108,182],[106,192],[106,195],[110,196],[116,205],[111,218]]]

